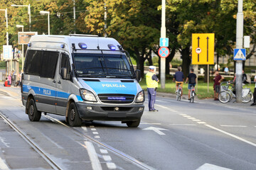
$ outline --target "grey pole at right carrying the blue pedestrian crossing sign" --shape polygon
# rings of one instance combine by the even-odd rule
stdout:
[[[242,0],[238,0],[237,28],[236,28],[236,48],[242,49],[243,38],[243,13]],[[235,56],[234,56],[235,57]],[[242,61],[237,60],[235,63],[235,91],[236,102],[242,102]]]

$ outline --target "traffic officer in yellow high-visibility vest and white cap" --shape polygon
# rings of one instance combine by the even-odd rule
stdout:
[[[158,87],[159,79],[155,74],[156,67],[149,66],[149,72],[146,74],[146,87],[148,91],[149,99],[149,111],[158,111],[154,108],[154,103],[156,102],[156,89]]]

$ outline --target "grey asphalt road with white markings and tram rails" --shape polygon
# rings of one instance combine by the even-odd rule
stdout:
[[[146,101],[139,128],[102,121],[70,128],[58,115],[30,122],[19,89],[0,91],[0,112],[60,169],[256,169],[256,108],[250,103],[189,103],[158,95],[159,112],[149,112]],[[53,169],[5,121],[0,128],[0,169]],[[23,148],[25,159],[12,159],[21,157],[11,143]]]

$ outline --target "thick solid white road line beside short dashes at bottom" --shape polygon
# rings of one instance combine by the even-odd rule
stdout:
[[[97,153],[95,151],[95,147],[93,147],[92,142],[85,141],[85,145],[87,147],[87,151],[90,157],[90,162],[92,164],[93,170],[100,170],[102,169],[102,166],[100,164],[100,161],[97,157]]]

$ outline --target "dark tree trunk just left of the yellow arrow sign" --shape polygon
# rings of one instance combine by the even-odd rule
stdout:
[[[188,77],[189,73],[189,66],[191,64],[191,56],[190,56],[190,47],[186,47],[185,49],[181,50],[182,55],[182,72],[184,74],[184,78]]]

